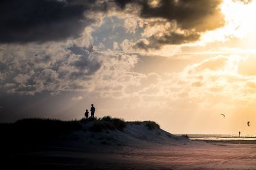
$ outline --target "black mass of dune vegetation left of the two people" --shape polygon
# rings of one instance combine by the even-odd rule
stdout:
[[[10,146],[12,150],[36,149],[51,144],[54,140],[65,138],[72,131],[79,131],[81,122],[77,120],[61,121],[56,119],[26,118],[13,124],[0,124],[3,150]]]

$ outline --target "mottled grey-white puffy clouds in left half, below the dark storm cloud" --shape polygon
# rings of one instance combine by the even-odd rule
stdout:
[[[8,92],[33,95],[95,91],[124,97],[126,84],[138,82],[136,74],[131,73],[138,62],[136,55],[92,52],[78,46],[65,48],[61,43],[4,47],[5,52],[0,53],[4,64],[0,86]]]

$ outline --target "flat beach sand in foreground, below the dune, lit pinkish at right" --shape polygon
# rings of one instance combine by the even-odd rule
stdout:
[[[256,169],[256,145],[196,141],[150,148],[51,147],[12,157],[31,169]]]

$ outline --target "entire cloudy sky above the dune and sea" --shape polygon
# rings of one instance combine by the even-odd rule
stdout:
[[[97,117],[152,120],[172,133],[256,135],[255,8],[1,1],[0,122],[81,119],[93,103]]]

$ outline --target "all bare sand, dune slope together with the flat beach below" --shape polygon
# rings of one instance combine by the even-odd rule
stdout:
[[[124,132],[89,127],[13,160],[27,169],[256,169],[256,145],[190,141],[144,125]]]

